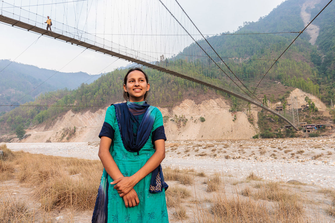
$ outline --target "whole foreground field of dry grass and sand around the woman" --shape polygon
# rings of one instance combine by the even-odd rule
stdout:
[[[0,222],[90,222],[100,161],[0,150]],[[165,168],[170,222],[334,221],[334,190],[246,176]]]

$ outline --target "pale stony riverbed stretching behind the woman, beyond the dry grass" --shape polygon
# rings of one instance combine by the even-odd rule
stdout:
[[[13,151],[99,159],[99,142],[6,143]],[[220,172],[237,180],[251,172],[266,180],[335,187],[335,138],[170,140],[162,166]]]

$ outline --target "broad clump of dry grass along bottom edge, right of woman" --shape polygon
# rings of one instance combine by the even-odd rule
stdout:
[[[252,192],[249,188],[241,193],[248,198],[238,195],[227,198],[225,194],[214,195],[214,204],[211,210],[212,215],[202,216],[204,222],[212,223],[235,223],[235,222],[262,222],[262,223],[299,223],[304,220],[303,205],[294,195],[289,195],[288,190],[283,190],[277,184],[262,185],[264,197],[256,199],[269,200],[275,202],[269,206],[266,202],[253,200]],[[264,192],[264,190],[268,190]],[[268,196],[275,194],[275,196]]]

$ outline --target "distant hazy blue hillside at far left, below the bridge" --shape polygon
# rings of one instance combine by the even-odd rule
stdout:
[[[14,105],[24,104],[28,101],[34,101],[35,97],[41,93],[63,88],[74,89],[78,87],[80,83],[86,82],[88,79],[90,80],[86,83],[92,83],[101,76],[90,76],[83,72],[57,72],[48,69],[41,69],[31,65],[19,64],[15,62],[11,63],[9,60],[0,60],[0,70],[2,69],[4,70],[0,74],[1,105],[11,105],[13,103]],[[51,77],[52,75],[54,76]],[[43,83],[44,81],[46,82]],[[42,85],[39,86],[40,84]],[[39,87],[36,90],[22,98],[37,86]],[[18,101],[20,98],[22,99]],[[11,109],[13,109],[13,107],[1,106],[0,114],[2,115],[1,112],[10,111]]]

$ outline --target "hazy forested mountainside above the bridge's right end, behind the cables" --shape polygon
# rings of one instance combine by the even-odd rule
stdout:
[[[207,41],[225,60],[228,67],[245,82],[246,86],[253,89],[254,83],[258,83],[274,63],[266,60],[277,59],[298,35],[297,32],[305,28],[300,15],[305,2],[305,0],[287,0],[257,22],[245,22],[244,26],[241,26],[235,33],[220,33],[220,35],[207,38]],[[306,11],[311,14],[310,21],[327,3],[328,1],[321,0],[315,5],[315,8],[307,7]],[[305,30],[274,64],[263,80],[276,80],[287,86],[302,89],[320,97],[327,105],[330,105],[331,99],[333,101],[335,99],[334,14],[335,4],[331,3],[314,22],[320,28],[316,44],[312,45],[309,42],[311,37]],[[294,33],[242,35],[269,32]],[[200,41],[200,45],[205,45],[204,40]],[[208,50],[209,46],[204,48]],[[196,50],[203,55],[196,44],[185,48],[182,54],[191,52],[194,54]],[[215,57],[214,54],[211,56]],[[188,63],[189,66],[192,66],[197,61],[189,60]]]

